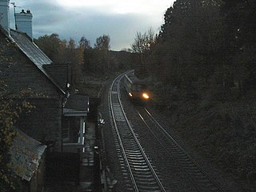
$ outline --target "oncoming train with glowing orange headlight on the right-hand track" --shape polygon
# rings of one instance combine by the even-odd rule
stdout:
[[[130,72],[124,75],[123,80],[126,94],[134,102],[146,103],[150,101],[150,94],[145,82],[142,82],[134,75],[134,72]]]

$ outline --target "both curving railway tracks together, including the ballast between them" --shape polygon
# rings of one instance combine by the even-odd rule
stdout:
[[[110,87],[109,108],[122,172],[130,181],[125,186],[126,191],[225,191],[161,126],[146,106],[127,105],[128,98],[121,100],[123,76],[119,75]],[[144,137],[140,137],[141,134]],[[152,155],[156,150],[162,158]],[[152,156],[154,159],[151,162],[148,157]]]

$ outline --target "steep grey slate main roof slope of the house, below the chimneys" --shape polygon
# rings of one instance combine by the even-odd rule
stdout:
[[[52,61],[36,44],[34,44],[34,42],[31,41],[29,36],[18,32],[17,30],[10,29],[10,37],[8,38],[17,44],[23,54],[26,54],[26,57],[29,58],[30,61],[46,75],[46,78],[50,79],[50,81],[54,83],[54,86],[57,86],[58,90],[60,90],[62,94],[65,94],[65,91],[62,90],[61,86],[59,86],[58,83],[55,82],[54,78],[52,78],[46,69],[43,68],[43,65],[51,65]]]

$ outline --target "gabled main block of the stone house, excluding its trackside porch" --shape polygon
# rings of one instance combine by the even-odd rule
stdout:
[[[69,66],[54,66],[28,34],[10,29],[9,3],[0,0],[0,80],[13,93],[32,93],[26,100],[34,109],[21,115],[18,129],[38,141],[54,143],[52,150],[60,151],[62,111],[69,96]]]

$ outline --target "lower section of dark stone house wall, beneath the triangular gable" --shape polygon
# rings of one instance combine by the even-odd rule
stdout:
[[[20,115],[18,129],[39,142],[55,142],[54,150],[62,144],[62,102],[54,98],[30,98],[35,106],[30,112]]]

